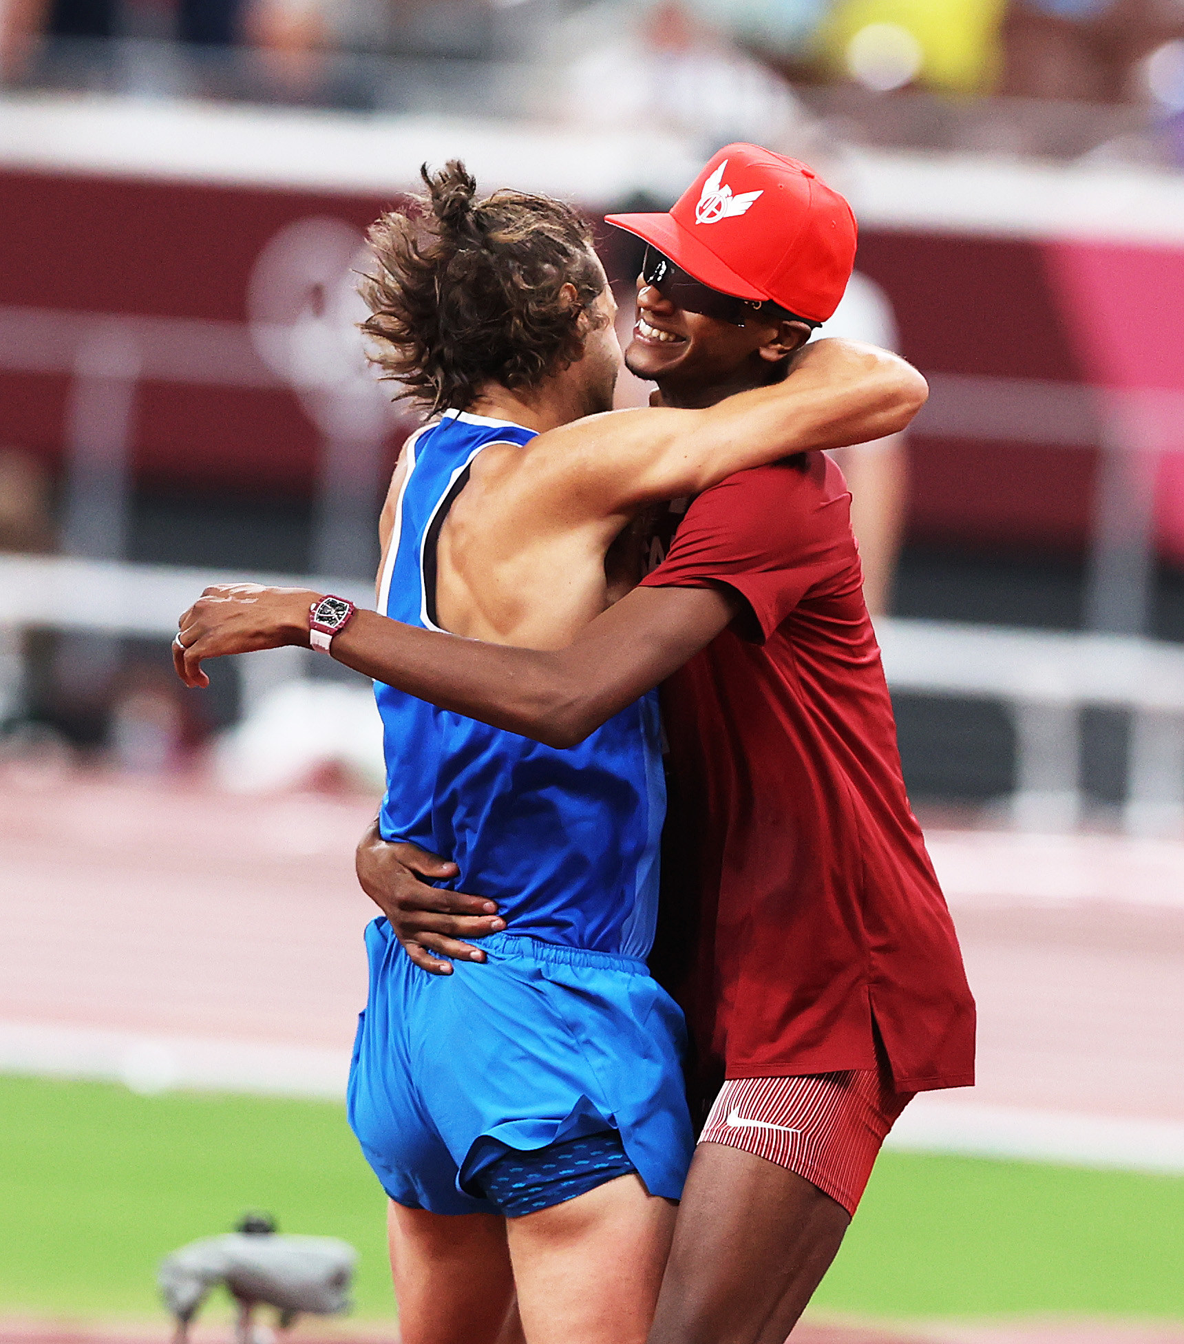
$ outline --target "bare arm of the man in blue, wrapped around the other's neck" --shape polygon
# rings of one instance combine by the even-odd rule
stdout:
[[[630,515],[793,453],[894,434],[927,395],[925,379],[898,355],[813,341],[784,382],[706,410],[613,411],[548,430],[521,450],[515,478],[532,501],[551,500],[560,526],[573,515]]]

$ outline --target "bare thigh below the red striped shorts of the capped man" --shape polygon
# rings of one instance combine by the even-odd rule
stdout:
[[[794,1172],[700,1144],[649,1344],[784,1344],[849,1222]]]

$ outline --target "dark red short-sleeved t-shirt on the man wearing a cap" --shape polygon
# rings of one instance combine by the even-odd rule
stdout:
[[[974,1000],[921,827],[851,532],[821,453],[706,491],[642,582],[749,610],[663,688],[671,804],[652,965],[699,1090],[876,1067],[974,1081]]]

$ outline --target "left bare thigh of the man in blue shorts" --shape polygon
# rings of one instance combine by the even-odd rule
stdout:
[[[515,1344],[504,1218],[391,1200],[387,1228],[403,1344]]]

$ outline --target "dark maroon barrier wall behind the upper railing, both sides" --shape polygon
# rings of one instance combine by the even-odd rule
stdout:
[[[0,308],[50,310],[58,320],[86,313],[242,324],[249,344],[247,289],[277,231],[329,218],[360,234],[388,203],[0,173]],[[1054,253],[1038,241],[867,228],[859,266],[890,296],[903,352],[926,374],[1099,380],[1106,371],[1091,367],[1066,300],[1063,257]],[[0,445],[58,461],[70,379],[69,368],[0,368]],[[149,489],[298,496],[312,488],[319,437],[281,379],[216,386],[149,372],[137,391],[133,462]],[[923,413],[913,434],[911,539],[964,550],[1079,552],[1097,468],[1097,450],[1090,435],[1083,438],[1074,449],[976,439],[965,431],[937,435]]]

